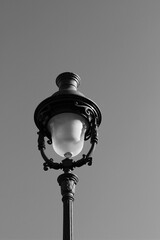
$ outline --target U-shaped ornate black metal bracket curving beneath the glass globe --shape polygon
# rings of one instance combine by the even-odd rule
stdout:
[[[42,158],[44,159],[44,170],[47,171],[48,168],[51,169],[63,169],[64,172],[72,171],[75,167],[81,167],[88,163],[89,166],[92,165],[92,153],[95,149],[96,144],[98,143],[98,133],[97,133],[97,123],[96,119],[92,122],[92,132],[91,132],[91,147],[87,153],[87,155],[83,154],[82,158],[77,161],[73,161],[72,159],[65,158],[61,163],[56,163],[52,158],[48,158],[44,152],[45,149],[45,140],[43,132],[38,132],[38,149],[41,153]]]

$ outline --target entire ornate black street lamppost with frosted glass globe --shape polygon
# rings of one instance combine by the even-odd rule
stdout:
[[[78,177],[72,173],[76,167],[92,165],[91,154],[98,143],[97,128],[101,123],[99,107],[80,93],[80,77],[64,72],[56,79],[59,91],[42,101],[35,110],[34,121],[39,129],[38,149],[44,159],[44,170],[62,169],[57,181],[63,201],[63,240],[73,240],[73,201]],[[64,159],[58,163],[45,153],[45,138],[54,151]],[[82,158],[73,161],[90,139],[90,149]]]

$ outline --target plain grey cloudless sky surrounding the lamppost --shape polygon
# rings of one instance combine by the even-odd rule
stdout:
[[[33,114],[65,71],[103,114],[75,240],[160,239],[160,1],[0,0],[0,35],[0,240],[62,239]]]

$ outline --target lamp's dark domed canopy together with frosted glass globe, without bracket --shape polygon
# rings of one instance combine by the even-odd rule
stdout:
[[[42,101],[35,110],[35,124],[52,142],[55,152],[67,158],[78,155],[84,140],[91,137],[93,122],[99,126],[98,106],[80,93],[80,77],[64,72],[56,79],[59,91]]]

